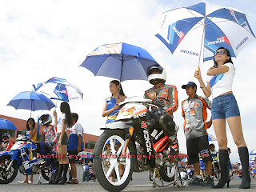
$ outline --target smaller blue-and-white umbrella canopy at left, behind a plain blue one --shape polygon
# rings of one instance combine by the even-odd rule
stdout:
[[[34,85],[33,85],[34,86]],[[68,82],[66,78],[50,78],[34,86],[36,93],[44,94],[50,99],[70,102],[75,99],[82,99],[83,93],[77,86]]]

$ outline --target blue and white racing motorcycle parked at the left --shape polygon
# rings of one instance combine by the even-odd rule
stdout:
[[[0,153],[0,184],[12,182],[18,174],[18,170],[22,174],[41,173],[43,178],[50,181],[50,177],[55,175],[58,160],[52,158],[54,157],[52,146],[47,146],[44,148],[44,152],[40,153],[37,147],[37,145],[40,146],[40,143],[31,142],[30,138],[20,135],[9,151]],[[43,158],[37,158],[37,152]]]

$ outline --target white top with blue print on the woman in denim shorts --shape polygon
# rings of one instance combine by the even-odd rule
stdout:
[[[232,91],[232,84],[234,79],[234,65],[230,62],[226,63],[225,66],[229,67],[229,71],[224,74],[216,74],[210,76],[210,90],[213,99],[217,98],[221,94],[225,94],[228,91]]]

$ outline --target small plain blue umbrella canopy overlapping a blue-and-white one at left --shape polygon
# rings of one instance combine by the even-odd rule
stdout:
[[[43,94],[34,93],[33,91],[24,91],[17,94],[7,106],[13,106],[16,110],[50,110],[55,105]]]

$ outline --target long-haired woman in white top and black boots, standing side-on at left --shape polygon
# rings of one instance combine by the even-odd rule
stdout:
[[[61,155],[61,158],[59,158],[58,175],[56,180],[53,182],[54,184],[58,184],[58,182],[60,182],[60,184],[66,183],[66,173],[69,168],[69,158],[66,157],[68,142],[66,130],[68,127],[71,127],[73,125],[72,116],[70,112],[70,105],[67,102],[62,102],[60,110],[62,112],[62,117],[58,120],[57,112],[56,110],[54,110],[54,126],[57,127],[58,137],[57,151],[58,155]]]

